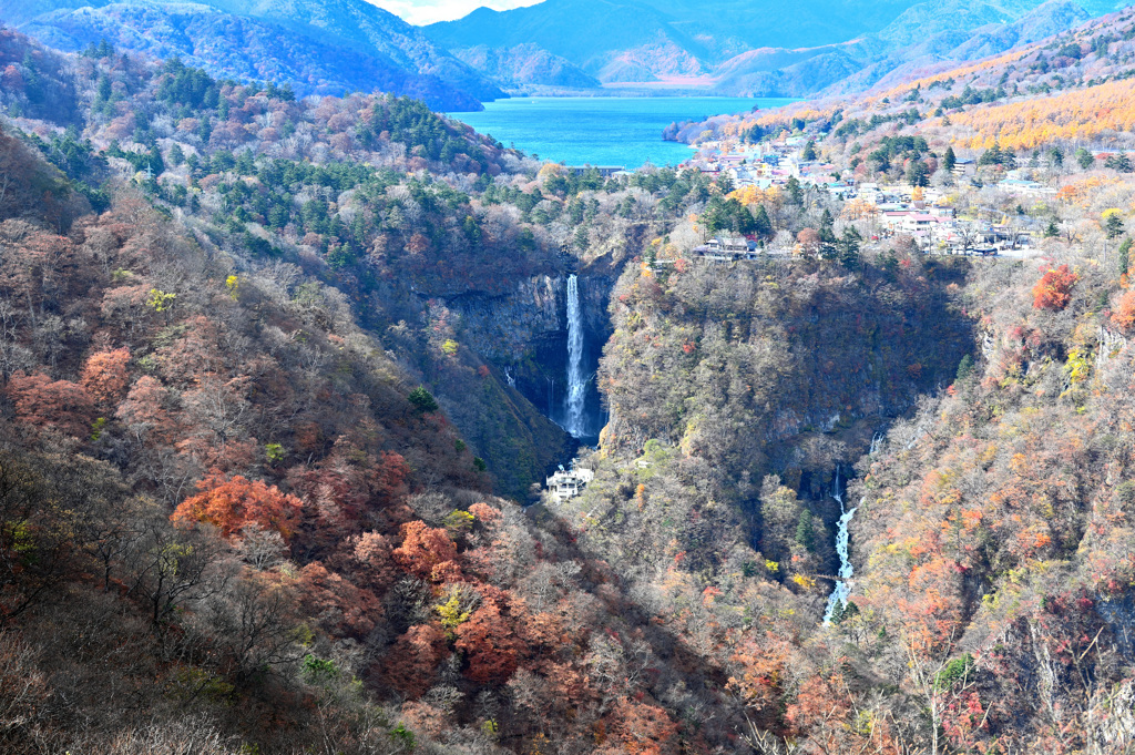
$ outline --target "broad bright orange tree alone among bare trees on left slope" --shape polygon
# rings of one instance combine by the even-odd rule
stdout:
[[[303,502],[275,485],[249,480],[237,475],[210,475],[197,484],[201,493],[183,501],[170,519],[175,522],[207,522],[225,537],[237,535],[246,525],[259,525],[279,532],[285,539],[300,523]]]

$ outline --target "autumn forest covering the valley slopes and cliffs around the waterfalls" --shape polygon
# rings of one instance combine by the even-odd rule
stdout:
[[[699,125],[938,187],[1029,259],[0,30],[5,750],[1129,752],[1126,136],[972,142],[1053,107],[1027,56],[1094,72],[1128,23]],[[765,253],[698,258],[718,232]],[[594,448],[544,397],[570,275]],[[573,454],[582,495],[541,495]]]

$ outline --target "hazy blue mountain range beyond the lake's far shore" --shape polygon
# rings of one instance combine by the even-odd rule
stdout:
[[[493,50],[536,45],[604,85],[695,87],[714,94],[807,97],[867,89],[894,75],[1002,52],[1127,5],[1096,0],[546,0],[478,8],[426,33],[505,89],[512,72],[482,68]],[[532,82],[543,83],[543,82]],[[548,82],[550,83],[550,82]]]

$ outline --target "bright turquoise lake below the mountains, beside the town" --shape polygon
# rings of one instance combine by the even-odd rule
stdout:
[[[482,112],[454,112],[482,134],[543,160],[568,165],[638,168],[678,165],[693,151],[662,141],[674,121],[789,104],[783,98],[728,97],[541,97],[486,102]]]

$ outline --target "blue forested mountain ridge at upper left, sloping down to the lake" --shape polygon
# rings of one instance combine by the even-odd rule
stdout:
[[[301,95],[379,90],[451,111],[505,97],[419,28],[363,0],[12,0],[0,19],[61,50],[106,37],[217,76],[288,82]]]

